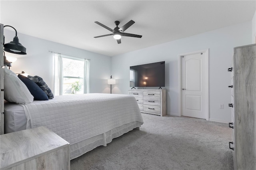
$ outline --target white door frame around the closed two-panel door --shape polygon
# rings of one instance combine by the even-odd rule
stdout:
[[[182,116],[182,56],[206,53],[206,121],[209,121],[209,49],[202,49],[178,55],[178,116]]]

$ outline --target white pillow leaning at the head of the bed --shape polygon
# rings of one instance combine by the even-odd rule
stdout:
[[[34,97],[18,76],[4,67],[4,99],[13,103],[32,103]]]

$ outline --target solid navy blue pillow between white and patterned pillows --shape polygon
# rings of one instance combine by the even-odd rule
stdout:
[[[34,100],[48,100],[47,95],[36,83],[21,74],[18,77],[28,87],[28,90],[34,96]]]

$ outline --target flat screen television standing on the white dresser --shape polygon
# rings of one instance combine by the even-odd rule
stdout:
[[[130,87],[164,87],[165,61],[130,66]]]

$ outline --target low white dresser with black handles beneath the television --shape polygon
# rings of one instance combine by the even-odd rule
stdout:
[[[166,115],[166,89],[131,89],[129,95],[135,97],[142,113]]]

